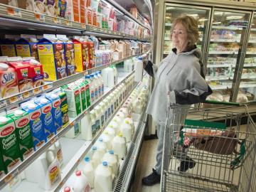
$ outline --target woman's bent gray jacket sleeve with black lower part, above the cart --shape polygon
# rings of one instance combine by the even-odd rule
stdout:
[[[186,78],[184,79],[188,88],[182,91],[173,90],[169,93],[172,102],[181,105],[192,105],[198,102],[204,102],[206,97],[213,93],[204,79],[200,65],[193,65],[186,70]]]

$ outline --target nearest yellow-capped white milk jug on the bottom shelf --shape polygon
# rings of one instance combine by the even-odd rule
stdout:
[[[122,133],[119,133],[116,137],[114,137],[112,141],[112,149],[114,150],[114,153],[117,154],[118,159],[122,159],[126,155],[127,146]]]

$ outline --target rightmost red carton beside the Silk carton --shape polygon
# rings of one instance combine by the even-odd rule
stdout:
[[[30,67],[28,78],[32,80],[33,87],[43,85],[43,65],[34,58],[23,58],[23,63],[28,64]]]

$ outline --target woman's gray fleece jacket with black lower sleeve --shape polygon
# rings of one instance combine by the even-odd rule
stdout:
[[[159,66],[151,67],[155,85],[146,113],[158,123],[166,121],[169,103],[191,105],[205,101],[212,93],[204,79],[201,50],[197,48],[178,54],[173,50]]]

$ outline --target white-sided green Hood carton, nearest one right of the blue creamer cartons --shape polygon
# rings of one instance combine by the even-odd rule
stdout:
[[[68,117],[77,117],[82,112],[80,87],[68,85],[63,89],[68,99]]]

